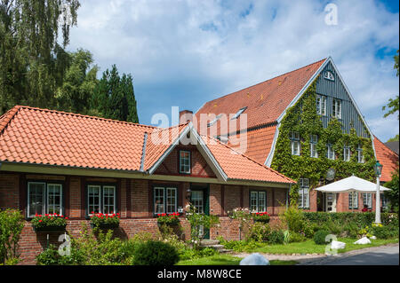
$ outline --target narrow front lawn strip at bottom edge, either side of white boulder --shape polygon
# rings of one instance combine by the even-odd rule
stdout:
[[[233,255],[212,255],[202,258],[180,261],[176,265],[239,265],[243,258]],[[271,265],[293,265],[295,261],[269,261]]]

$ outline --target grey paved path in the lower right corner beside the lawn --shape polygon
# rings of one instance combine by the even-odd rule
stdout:
[[[304,261],[300,265],[398,265],[399,245],[364,248]]]

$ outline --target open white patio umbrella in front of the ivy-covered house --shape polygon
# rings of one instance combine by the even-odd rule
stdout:
[[[316,188],[316,191],[323,193],[376,193],[376,187],[376,184],[353,175],[331,184],[320,186]],[[390,189],[380,185],[380,191],[390,191]]]

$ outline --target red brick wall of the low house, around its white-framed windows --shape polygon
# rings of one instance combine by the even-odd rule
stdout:
[[[63,189],[66,193],[66,216],[69,217],[67,232],[72,236],[78,236],[81,225],[86,224],[90,229],[90,221],[85,216],[85,185],[93,182],[111,183],[117,185],[117,207],[121,213],[120,227],[116,229],[116,236],[122,239],[131,238],[138,232],[151,232],[156,234],[158,226],[153,216],[153,185],[173,185],[178,187],[178,206],[184,208],[188,205],[187,190],[191,187],[188,182],[164,182],[149,181],[140,179],[113,179],[102,177],[75,177],[75,176],[45,176],[25,175],[17,173],[0,172],[0,208],[20,208],[20,200],[25,201],[22,207],[26,206],[27,197],[20,198],[20,191],[26,193],[26,180],[59,180],[63,182]],[[196,185],[196,184],[192,184]],[[203,187],[207,185],[203,184]],[[267,192],[268,212],[277,213],[280,204],[285,202],[286,189],[260,188],[242,185],[217,185],[209,186],[210,213],[220,216],[220,225],[210,232],[211,239],[223,236],[227,240],[238,240],[239,229],[236,220],[228,217],[228,211],[234,208],[249,208],[249,192],[251,190],[263,190]],[[84,193],[83,193],[84,191]],[[273,205],[273,197],[275,197]],[[271,222],[274,222],[273,217]],[[189,224],[182,216],[180,221],[183,232],[181,237],[188,240],[190,237]],[[60,232],[49,233],[49,243],[56,246]],[[47,247],[47,233],[34,232],[29,221],[26,222],[20,238],[20,258],[22,263],[35,263],[36,255],[40,254]]]

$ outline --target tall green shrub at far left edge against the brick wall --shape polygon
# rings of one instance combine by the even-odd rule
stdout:
[[[24,217],[19,210],[0,210],[0,263],[18,259],[17,249]]]

